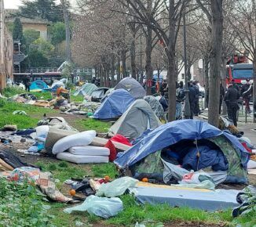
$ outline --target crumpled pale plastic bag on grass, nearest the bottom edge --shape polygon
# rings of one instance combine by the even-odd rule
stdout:
[[[81,205],[64,209],[68,214],[72,211],[87,211],[102,218],[110,218],[123,211],[123,202],[119,198],[89,196]]]

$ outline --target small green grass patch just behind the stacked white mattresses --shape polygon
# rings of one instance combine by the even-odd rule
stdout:
[[[86,118],[75,122],[81,130],[96,130],[97,132],[108,132],[110,122],[103,122],[93,118]]]

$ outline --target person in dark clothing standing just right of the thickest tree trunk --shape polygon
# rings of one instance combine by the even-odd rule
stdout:
[[[232,84],[229,84],[228,91],[224,95],[224,101],[228,107],[229,119],[233,121],[235,126],[237,126],[236,112],[239,110],[238,99],[240,99],[240,93]]]

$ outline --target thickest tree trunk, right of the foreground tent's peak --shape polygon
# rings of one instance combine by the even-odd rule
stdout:
[[[221,78],[221,52],[223,37],[222,0],[211,0],[212,11],[212,56],[210,60],[210,89],[208,122],[218,127]]]

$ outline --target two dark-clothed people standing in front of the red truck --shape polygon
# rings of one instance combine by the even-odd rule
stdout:
[[[245,103],[245,110],[247,113],[251,113],[250,100],[253,94],[253,85],[250,83],[250,79],[247,79],[246,84],[244,84],[241,89],[235,83],[231,81],[228,85],[228,90],[225,92],[224,101],[228,109],[229,119],[233,121],[233,124],[237,126],[237,111],[240,109],[239,100],[240,97],[243,98]]]

